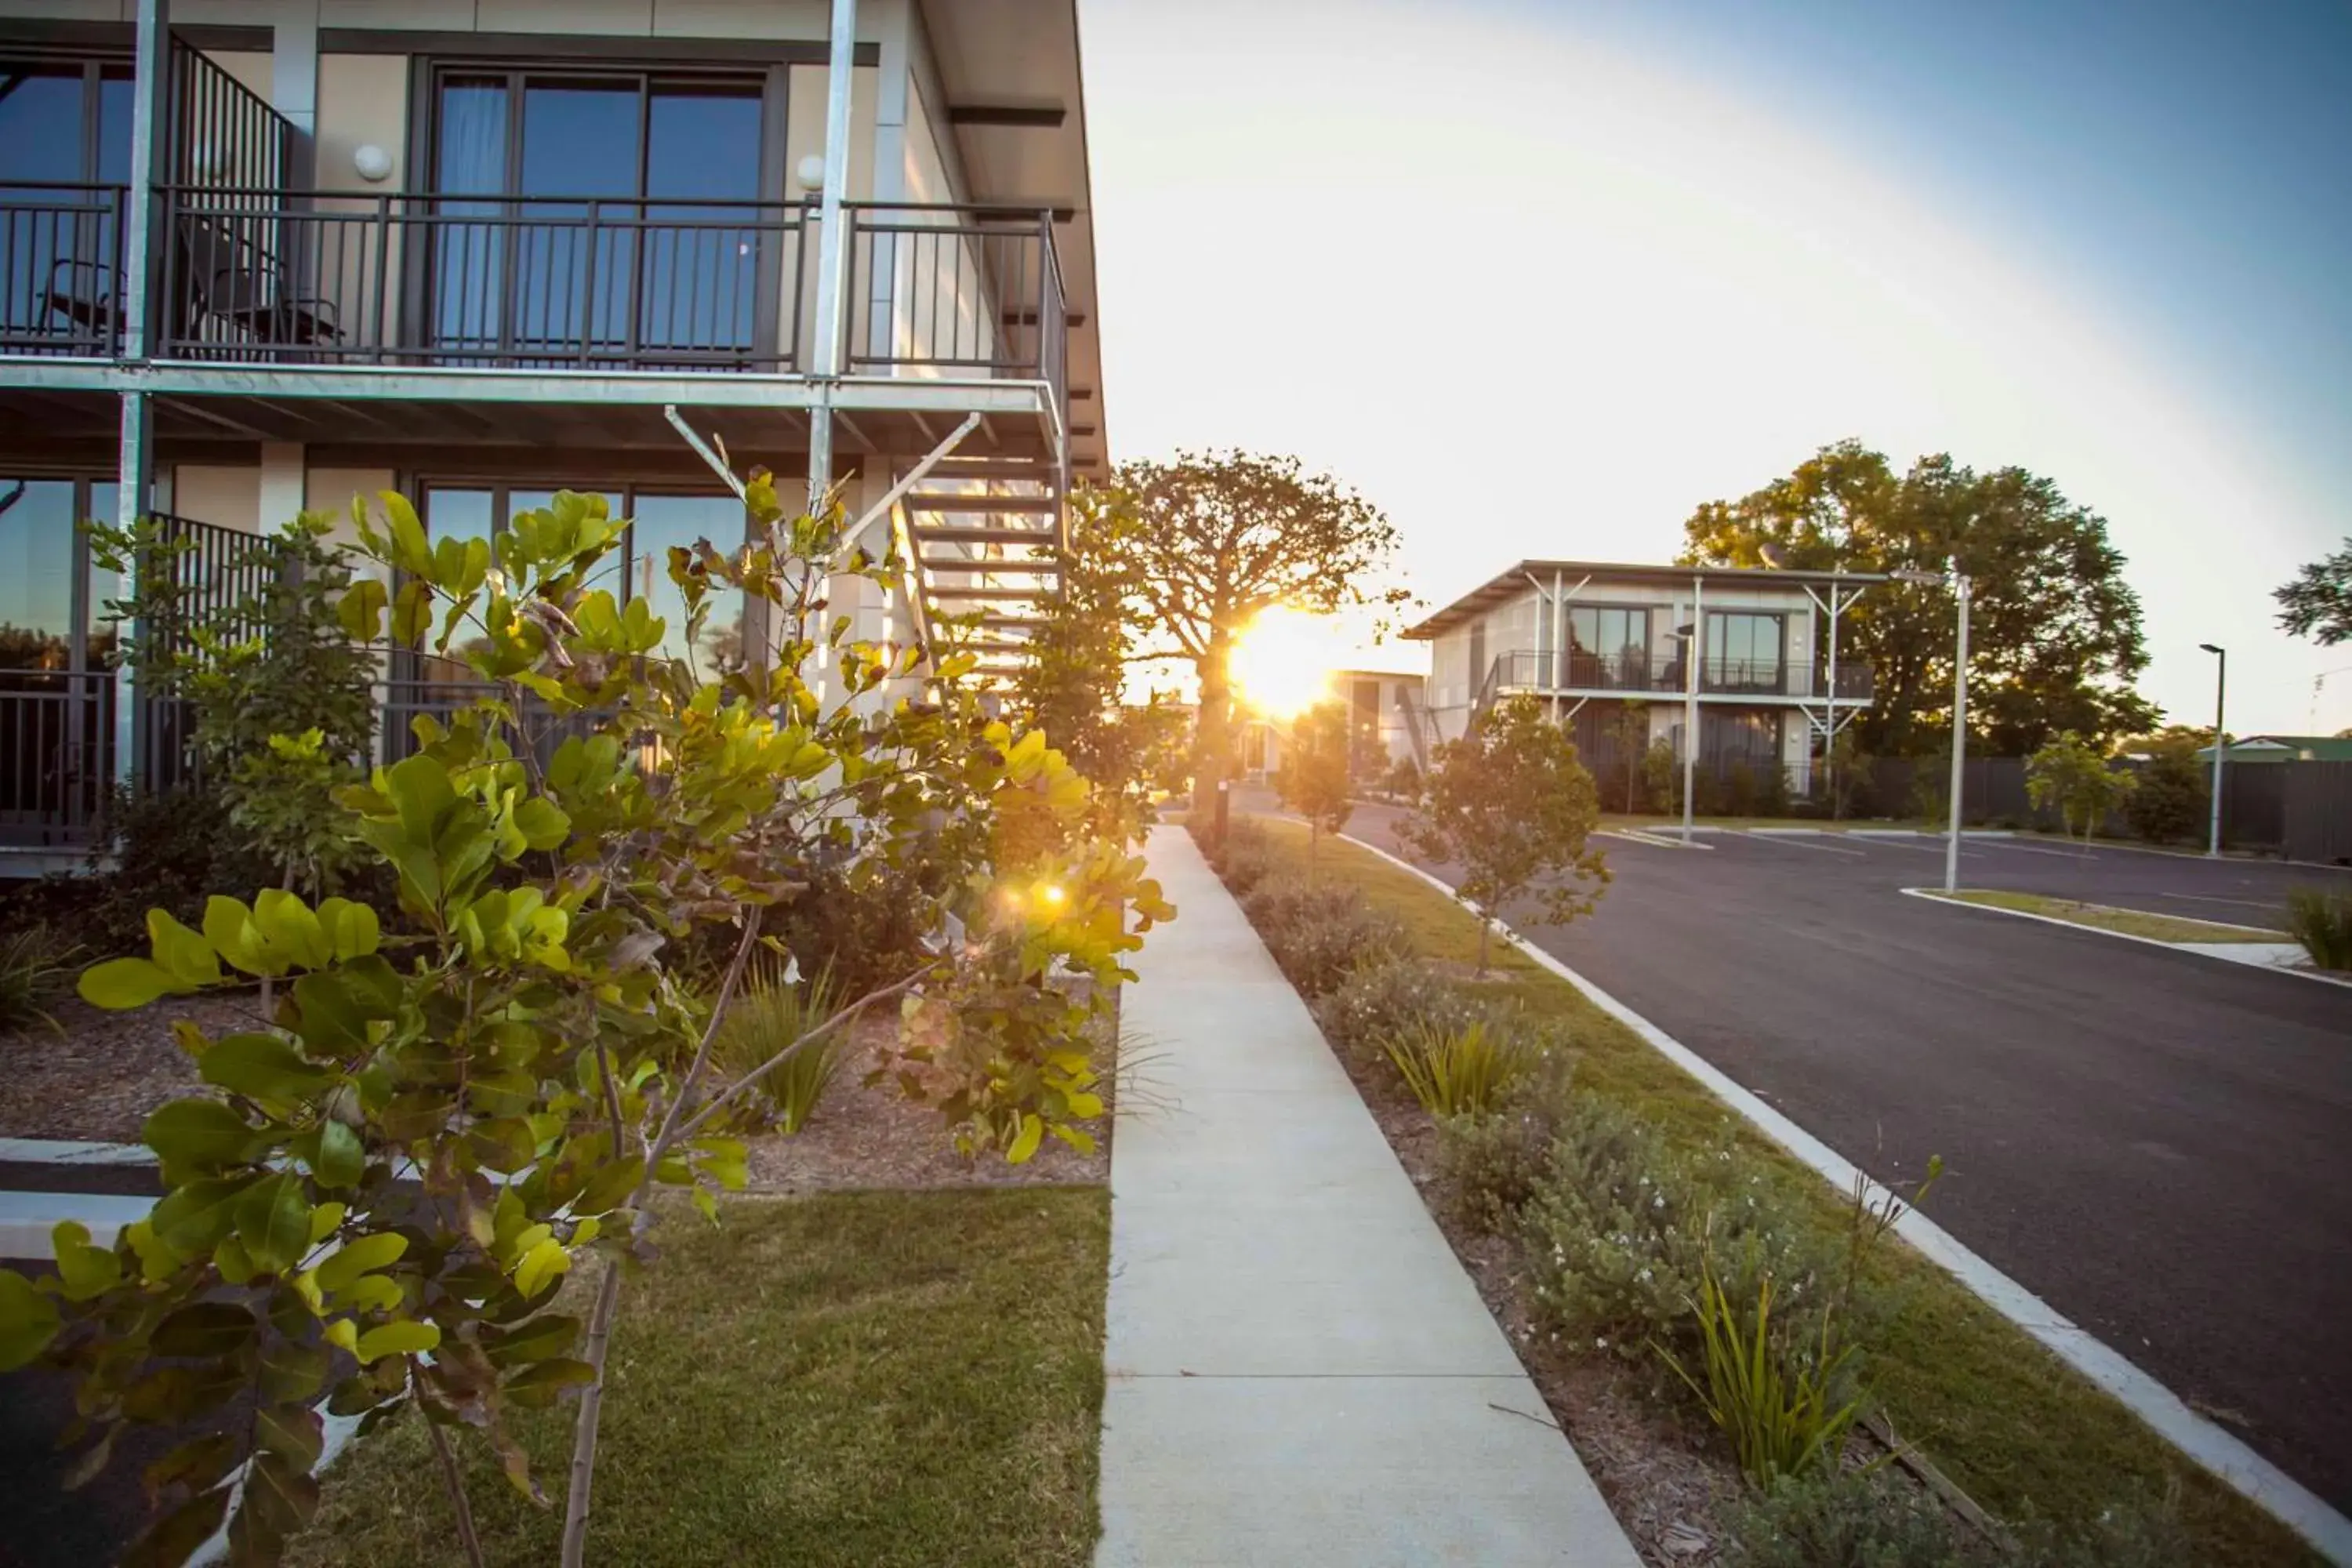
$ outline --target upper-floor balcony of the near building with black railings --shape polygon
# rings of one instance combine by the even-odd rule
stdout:
[[[844,202],[821,320],[814,200],[294,190],[289,136],[174,38],[134,367],[132,188],[0,183],[0,418],[103,437],[129,369],[160,435],[350,440],[365,402],[390,440],[668,449],[677,402],[757,451],[818,404],[861,409],[849,454],[927,451],[969,411],[985,456],[1065,449],[1051,212]]]

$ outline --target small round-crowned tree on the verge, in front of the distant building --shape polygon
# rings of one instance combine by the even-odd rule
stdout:
[[[1477,910],[1477,973],[1486,973],[1494,922],[1529,893],[1536,924],[1564,926],[1592,910],[1609,867],[1590,849],[1599,790],[1566,731],[1536,698],[1496,703],[1430,762],[1428,797],[1399,835],[1430,860],[1463,867],[1454,896]]]

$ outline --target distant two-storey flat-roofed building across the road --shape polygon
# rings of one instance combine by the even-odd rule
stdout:
[[[1651,748],[1684,757],[1696,708],[1703,780],[1804,795],[1816,755],[1870,705],[1870,668],[1837,658],[1835,623],[1879,581],[1531,559],[1404,635],[1430,644],[1437,738],[1458,738],[1505,696],[1534,696],[1616,802],[1613,780]]]

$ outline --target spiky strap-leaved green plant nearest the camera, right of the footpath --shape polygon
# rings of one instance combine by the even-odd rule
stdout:
[[[1703,1262],[1691,1316],[1705,1382],[1661,1347],[1665,1363],[1698,1394],[1708,1420],[1731,1439],[1731,1455],[1752,1486],[1837,1467],[1863,1410],[1860,1396],[1849,1392],[1858,1352],[1837,1342],[1835,1314],[1823,1309],[1820,1333],[1806,1345],[1811,1354],[1790,1356],[1773,1338],[1771,1298],[1773,1279],[1764,1274],[1750,1312],[1724,1293],[1715,1267]]]

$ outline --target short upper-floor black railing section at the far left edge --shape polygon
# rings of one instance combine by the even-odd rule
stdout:
[[[0,353],[103,360],[122,343],[122,186],[0,186]]]

